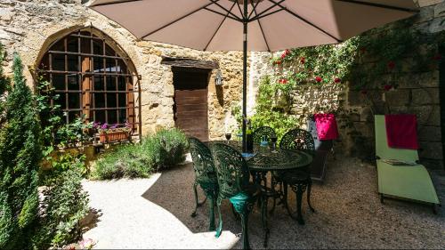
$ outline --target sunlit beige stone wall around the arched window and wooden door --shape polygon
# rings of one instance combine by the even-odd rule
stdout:
[[[198,52],[173,45],[138,41],[125,28],[88,9],[81,0],[2,0],[0,1],[0,43],[9,56],[4,65],[11,73],[12,52],[18,52],[28,69],[36,66],[46,47],[56,38],[76,28],[93,27],[120,44],[142,76],[142,133],[174,126],[173,72],[161,64],[161,56],[185,57],[219,62],[223,87],[215,88],[214,73],[208,85],[210,139],[222,138],[226,127],[234,127],[231,105],[242,93],[241,52]],[[29,70],[28,85],[33,84]],[[224,126],[222,126],[224,124]]]

